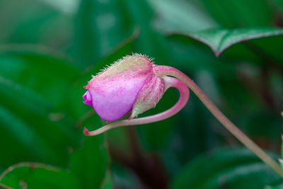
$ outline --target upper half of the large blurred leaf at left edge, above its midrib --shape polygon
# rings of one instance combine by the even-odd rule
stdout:
[[[39,93],[51,107],[69,103],[79,70],[64,55],[38,45],[1,45],[0,75]]]

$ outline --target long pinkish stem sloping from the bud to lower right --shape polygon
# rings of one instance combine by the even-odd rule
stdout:
[[[200,98],[200,101],[202,101],[202,103],[207,107],[207,109],[209,109],[209,111],[215,116],[215,118],[219,120],[219,122],[221,122],[221,124],[224,125],[227,130],[229,130],[229,132],[231,132],[239,141],[241,141],[246,147],[248,147],[248,149],[253,151],[255,155],[257,155],[263,162],[265,162],[265,164],[270,166],[270,168],[278,173],[279,176],[283,177],[283,173],[279,164],[268,154],[266,154],[265,151],[258,147],[255,142],[253,142],[249,137],[246,136],[246,134],[239,130],[238,127],[233,124],[233,122],[226,118],[226,116],[221,113],[221,111],[214,105],[214,103],[212,103],[212,101],[210,101],[210,99],[204,94],[200,87],[197,86],[194,81],[192,81],[192,79],[183,74],[183,72],[173,67],[156,66],[154,67],[154,71],[160,77],[169,75],[183,81],[197,95],[197,97]]]

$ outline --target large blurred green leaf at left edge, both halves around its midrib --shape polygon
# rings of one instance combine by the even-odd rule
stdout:
[[[6,46],[0,62],[0,150],[6,151],[0,165],[41,161],[66,166],[69,147],[78,146],[81,134],[67,113],[77,70],[56,56]]]

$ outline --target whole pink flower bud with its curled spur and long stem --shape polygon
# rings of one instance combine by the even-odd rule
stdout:
[[[173,107],[156,115],[134,118],[153,108],[163,96],[164,91],[170,87],[175,87],[180,92],[180,98]],[[190,96],[187,87],[194,91],[196,96],[227,130],[282,176],[279,164],[265,154],[265,151],[262,151],[257,144],[243,134],[236,125],[233,125],[192,79],[173,67],[157,66],[151,63],[150,59],[141,55],[125,57],[94,76],[85,87],[88,91],[83,95],[84,103],[93,106],[101,118],[117,120],[132,111],[129,120],[112,122],[91,132],[84,128],[83,133],[93,136],[115,127],[141,125],[170,118],[187,103]]]

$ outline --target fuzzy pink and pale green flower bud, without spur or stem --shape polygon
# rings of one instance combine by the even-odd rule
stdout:
[[[130,111],[130,118],[137,117],[154,108],[165,91],[163,79],[154,74],[154,66],[141,55],[120,59],[88,82],[84,103],[103,120],[117,120]]]

